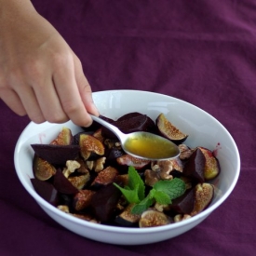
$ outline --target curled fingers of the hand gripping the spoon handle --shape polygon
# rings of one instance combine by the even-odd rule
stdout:
[[[11,87],[0,88],[0,97],[18,115],[28,115],[35,123],[63,123],[71,119],[88,127],[88,113],[99,115],[91,88],[76,56],[59,63],[58,69],[30,68],[30,77],[15,75]],[[34,72],[32,72],[34,71]]]

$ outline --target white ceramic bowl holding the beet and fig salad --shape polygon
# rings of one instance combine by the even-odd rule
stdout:
[[[217,153],[222,172],[214,180],[214,184],[220,191],[208,209],[188,220],[166,226],[140,229],[106,226],[80,220],[56,209],[35,193],[30,181],[34,177],[32,170],[34,151],[30,145],[32,143],[48,143],[57,136],[62,127],[71,128],[74,134],[81,128],[74,126],[72,122],[61,125],[30,123],[23,130],[17,142],[14,155],[15,168],[20,182],[28,193],[56,222],[75,234],[101,242],[118,245],[148,244],[179,236],[192,229],[207,218],[232,193],[239,176],[240,157],[236,142],[214,117],[190,103],[153,92],[109,90],[93,93],[93,99],[101,115],[114,119],[130,112],[149,115],[153,120],[160,113],[165,114],[175,126],[189,134],[185,141],[187,145],[191,147],[204,146]]]

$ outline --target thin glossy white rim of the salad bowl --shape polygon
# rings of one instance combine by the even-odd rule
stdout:
[[[207,115],[210,115],[209,113],[207,113],[206,111],[202,110],[201,108],[195,106],[192,103],[189,103],[187,101],[182,101],[178,98],[172,97],[172,96],[168,96],[166,94],[161,94],[161,93],[157,93],[157,92],[151,92],[151,91],[143,91],[143,90],[134,90],[134,89],[113,89],[113,90],[104,90],[104,91],[95,91],[92,93],[92,95],[97,95],[97,94],[101,94],[101,93],[115,93],[115,92],[129,92],[129,93],[143,93],[143,94],[153,94],[153,95],[159,95],[159,96],[164,96],[167,97],[168,100],[174,100],[174,101],[181,101],[182,103],[185,104],[189,104],[192,105],[193,107],[197,108],[198,110],[204,112]],[[198,213],[197,215],[193,216],[193,218],[189,218],[187,220],[184,220],[182,222],[174,222],[168,225],[163,225],[163,226],[157,226],[157,227],[148,227],[148,228],[138,228],[138,227],[120,227],[120,226],[111,226],[111,225],[104,225],[104,224],[99,224],[99,223],[94,223],[94,222],[87,222],[85,220],[81,220],[79,218],[76,218],[72,215],[68,215],[67,213],[61,211],[60,209],[57,209],[56,207],[52,206],[51,204],[49,204],[45,199],[43,199],[40,195],[38,195],[35,190],[28,185],[28,183],[25,181],[25,179],[23,179],[22,175],[20,174],[20,167],[18,165],[18,159],[19,159],[19,145],[20,142],[22,140],[23,134],[26,133],[27,129],[31,128],[31,127],[36,127],[38,126],[37,124],[35,124],[34,122],[30,122],[24,129],[23,131],[20,133],[20,137],[16,143],[15,146],[15,150],[14,150],[14,164],[15,164],[15,168],[16,168],[16,173],[20,179],[20,182],[22,183],[22,185],[25,187],[26,191],[32,195],[34,197],[34,200],[40,205],[40,207],[46,208],[49,211],[53,211],[56,215],[60,215],[61,218],[63,219],[67,219],[70,222],[75,222],[79,225],[82,226],[88,226],[89,228],[93,228],[99,231],[107,231],[107,232],[111,232],[111,233],[125,233],[125,234],[146,234],[146,233],[157,233],[159,231],[170,231],[170,230],[174,230],[177,229],[179,227],[182,227],[184,225],[188,225],[192,222],[196,222],[199,221],[201,219],[206,218],[210,212],[212,212],[214,209],[217,209],[222,203],[223,201],[226,200],[226,198],[232,193],[232,191],[234,190],[235,186],[236,186],[236,182],[238,180],[239,174],[240,174],[240,155],[238,152],[238,148],[236,146],[236,142],[234,141],[233,137],[231,136],[231,134],[228,132],[228,130],[226,128],[223,127],[223,125],[220,123],[220,121],[218,121],[214,116],[210,115],[212,118],[215,119],[215,121],[217,123],[219,123],[219,125],[222,126],[222,128],[226,131],[227,135],[229,136],[229,140],[232,142],[234,149],[235,149],[235,154],[236,154],[236,161],[237,161],[237,165],[236,165],[236,176],[234,177],[234,181],[231,183],[230,187],[227,189],[227,191],[225,192],[225,194],[222,195],[222,197],[214,202],[212,205],[209,206],[208,209],[204,209],[202,212]],[[68,121],[67,123],[70,123],[71,121]],[[58,125],[58,124],[50,124],[48,122],[45,122],[43,124],[47,124],[47,126],[49,125]],[[65,124],[65,123],[64,123]],[[61,124],[61,125],[64,125]],[[42,124],[40,124],[42,125]],[[39,126],[40,126],[39,125]]]

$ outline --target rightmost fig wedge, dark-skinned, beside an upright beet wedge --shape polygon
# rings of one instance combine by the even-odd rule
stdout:
[[[206,166],[204,170],[204,177],[206,181],[217,177],[221,171],[219,160],[212,154],[212,152],[204,147],[198,147],[206,157]]]

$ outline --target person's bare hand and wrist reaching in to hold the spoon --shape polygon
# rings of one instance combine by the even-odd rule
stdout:
[[[73,50],[30,1],[0,5],[0,98],[35,123],[90,125],[99,113]]]

